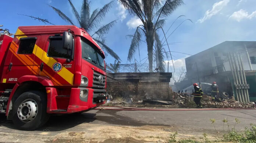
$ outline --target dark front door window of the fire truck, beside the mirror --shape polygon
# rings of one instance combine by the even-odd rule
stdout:
[[[50,45],[48,49],[49,57],[72,59],[73,47],[68,50],[62,48],[62,37],[50,37]]]

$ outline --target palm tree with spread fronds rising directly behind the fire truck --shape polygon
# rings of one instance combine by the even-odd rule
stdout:
[[[107,12],[109,12],[110,8],[114,5],[114,1],[111,1],[110,3],[105,4],[102,8],[95,9],[92,14],[90,15],[90,2],[88,0],[83,0],[81,12],[80,15],[78,14],[77,9],[72,4],[71,0],[68,0],[73,14],[78,22],[79,27],[82,27],[85,29],[91,37],[112,57],[114,57],[116,60],[121,61],[120,57],[109,48],[109,46],[106,45],[104,34],[108,33],[110,28],[114,26],[114,24],[117,22],[117,20],[113,20],[110,23],[106,25],[102,25],[99,27],[100,22],[105,17]],[[75,23],[68,18],[63,12],[61,12],[56,7],[53,7],[49,5],[53,10],[66,22],[70,23],[71,25],[75,25]],[[28,15],[25,15],[28,16]],[[39,17],[29,16],[33,19],[37,19],[44,23],[50,23],[47,19],[42,19]],[[52,24],[52,23],[50,23]],[[53,24],[52,24],[53,25]]]

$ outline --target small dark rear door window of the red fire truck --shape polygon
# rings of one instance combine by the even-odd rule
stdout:
[[[32,54],[36,44],[36,37],[26,37],[19,39],[18,54]]]

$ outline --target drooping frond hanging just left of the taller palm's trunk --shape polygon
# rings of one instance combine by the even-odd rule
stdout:
[[[140,43],[140,39],[141,39],[141,33],[137,27],[133,37],[132,37],[132,42],[129,48],[129,52],[128,52],[128,61],[132,60],[132,57],[134,56],[135,50],[138,48],[138,43]]]

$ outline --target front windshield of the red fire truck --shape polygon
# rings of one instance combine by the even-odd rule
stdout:
[[[99,53],[100,51],[97,50],[96,46],[92,46],[92,44],[90,44],[88,40],[86,40],[83,37],[81,37],[81,45],[82,45],[82,57],[84,59],[87,59],[101,67],[104,67],[103,58]]]

